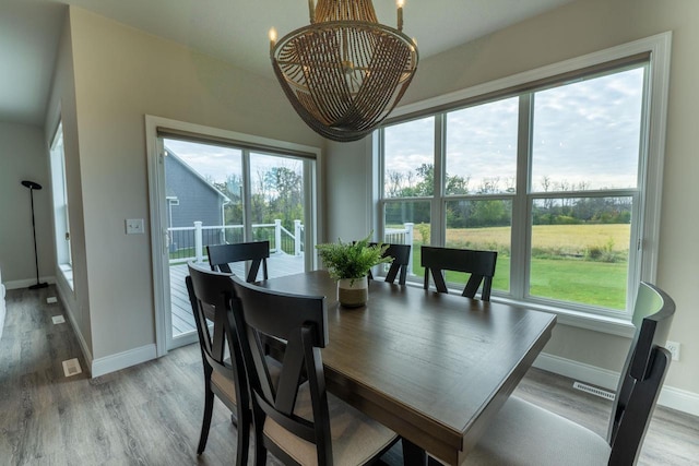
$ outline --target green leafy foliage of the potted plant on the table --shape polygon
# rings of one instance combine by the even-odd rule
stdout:
[[[365,277],[372,266],[393,262],[393,258],[383,256],[389,244],[370,246],[370,237],[371,235],[353,242],[337,239],[337,242],[316,246],[318,255],[333,279],[351,278],[354,282],[356,278]]]

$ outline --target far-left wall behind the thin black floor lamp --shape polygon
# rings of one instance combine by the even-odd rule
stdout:
[[[56,260],[44,133],[38,127],[0,122],[0,268],[9,289],[36,283],[29,190],[22,180],[43,188],[34,191],[39,279],[52,282]]]

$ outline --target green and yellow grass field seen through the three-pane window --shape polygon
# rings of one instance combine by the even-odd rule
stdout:
[[[609,309],[626,309],[628,243],[628,225],[534,226],[530,295]],[[419,244],[416,242],[415,246],[413,272],[424,276]],[[509,227],[448,229],[447,246],[498,251],[493,288],[509,290]],[[607,251],[607,255],[591,254],[595,250]],[[597,260],[591,260],[591,256]],[[450,272],[447,280],[465,283],[465,274]]]

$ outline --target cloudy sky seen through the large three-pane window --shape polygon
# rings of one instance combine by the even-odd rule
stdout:
[[[588,189],[637,186],[643,69],[541,91],[534,96],[532,180],[543,190],[581,182]],[[500,178],[505,189],[517,167],[518,98],[447,116],[447,174],[470,177],[471,189]],[[388,127],[386,169],[413,171],[434,163],[431,117]]]

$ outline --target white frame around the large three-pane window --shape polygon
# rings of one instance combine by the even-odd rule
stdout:
[[[647,80],[648,99],[645,103],[647,109],[643,121],[643,124],[645,126],[644,131],[647,138],[641,142],[641,155],[639,157],[639,174],[643,174],[643,179],[639,179],[638,183],[638,191],[640,193],[639,202],[641,206],[640,215],[642,218],[638,223],[639,230],[631,231],[631,240],[638,244],[640,252],[637,254],[630,254],[629,274],[633,274],[635,277],[638,277],[638,280],[655,283],[660,242],[659,236],[665,152],[667,94],[670,83],[671,44],[672,33],[667,32],[582,57],[566,60],[552,65],[538,68],[489,83],[473,86],[466,89],[457,91],[454,93],[446,94],[439,97],[402,106],[393,111],[390,120],[388,121],[388,124],[392,124],[399,121],[407,121],[412,119],[413,116],[426,117],[430,115],[430,109],[435,109],[435,112],[431,115],[441,118],[440,115],[443,115],[443,112],[447,110],[457,109],[458,103],[462,103],[464,100],[477,99],[479,96],[494,95],[498,92],[520,87],[528,83],[534,83],[565,73],[574,73],[576,71],[620,60],[626,57],[632,57],[639,53],[650,53]],[[377,212],[374,218],[377,219],[376,230],[381,234],[383,231],[383,218],[382,215],[379,214],[383,212],[384,204],[384,201],[382,200],[383,160],[382,156],[380,155],[380,150],[382,146],[381,130],[375,132],[372,138],[375,139],[375,143],[372,144],[374,155],[376,158],[378,158],[378,163],[375,164],[375,166],[379,170],[378,176],[371,176],[372,189],[375,190],[374,198],[378,200],[378,202],[375,204],[375,208],[377,210]],[[435,178],[438,178],[438,174],[440,172],[438,171],[440,163],[441,158],[437,156],[435,160]],[[518,179],[518,186],[521,180],[522,177]],[[538,195],[531,194],[528,190],[526,199],[531,200],[532,196],[537,198]],[[451,196],[447,198],[438,195],[438,191],[435,192],[434,200],[436,202],[443,202],[445,200],[451,199]],[[407,201],[407,199],[402,200]],[[410,200],[412,201],[413,199]],[[529,208],[526,211],[529,211]],[[440,212],[440,210],[433,210],[433,212]],[[520,211],[513,211],[512,213],[513,216],[528,214],[529,212],[521,212],[521,208]],[[433,238],[441,238],[441,243],[443,243],[443,232],[441,231],[443,229],[443,223],[440,222],[440,218],[431,218],[431,223]],[[438,230],[436,230],[435,228],[437,228]],[[520,244],[511,244],[512,250],[528,249],[524,235],[513,234],[512,241],[523,241],[523,243]],[[636,260],[633,255],[639,259],[638,263],[633,262]],[[512,258],[513,268],[514,261],[516,258]],[[638,280],[629,280],[629,284],[638,283]],[[520,288],[512,289],[512,287],[517,286],[520,286]],[[522,285],[518,284],[517,280],[511,279],[510,287],[512,297],[493,296],[491,300],[507,301],[513,304],[525,306],[532,309],[541,309],[548,312],[554,312],[558,314],[558,322],[562,324],[574,325],[621,336],[630,336],[632,334],[632,325],[630,324],[630,311],[633,306],[636,288],[627,290],[627,296],[629,297],[629,299],[627,299],[628,304],[626,312],[620,316],[614,316],[611,313],[595,312],[593,309],[588,310],[583,306],[566,306],[560,302],[547,302],[547,300],[545,299],[521,298],[525,297],[526,292],[525,290],[521,289]],[[517,298],[514,298],[514,296],[517,296]]]

